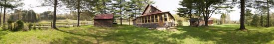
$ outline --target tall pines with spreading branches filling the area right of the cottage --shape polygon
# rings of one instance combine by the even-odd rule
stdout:
[[[259,10],[260,13],[256,12],[256,14],[261,15],[261,26],[265,26],[264,15],[267,16],[266,27],[271,26],[270,10],[271,8],[274,8],[274,0],[181,0],[179,5],[182,7],[177,8],[177,15],[189,19],[192,18],[193,14],[198,14],[198,16],[201,15],[205,20],[205,26],[208,26],[207,20],[211,18],[212,14],[220,14],[222,12],[229,13],[233,11],[231,9],[234,8],[234,6],[238,6],[241,10],[239,30],[246,31],[245,24],[248,23],[247,21],[250,21],[246,18],[251,18],[247,13],[250,8]]]

